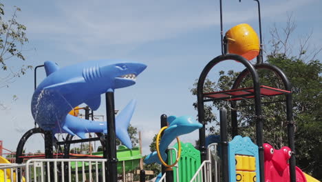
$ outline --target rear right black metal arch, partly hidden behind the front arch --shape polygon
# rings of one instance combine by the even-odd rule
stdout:
[[[257,70],[270,70],[272,72],[275,72],[277,77],[283,81],[283,85],[285,90],[292,91],[292,84],[290,83],[288,77],[286,77],[286,74],[279,69],[275,65],[270,65],[269,63],[257,63],[254,65],[255,69]],[[243,70],[238,77],[235,79],[235,83],[233,84],[232,89],[236,89],[239,87],[241,81],[249,74],[249,71],[247,69]],[[233,108],[235,108],[236,101],[231,101],[231,105]],[[286,120],[288,121],[288,145],[290,149],[292,150],[293,154],[290,158],[290,181],[296,181],[296,173],[295,173],[295,166],[296,166],[296,160],[295,160],[295,144],[294,144],[294,121],[293,121],[293,113],[292,113],[292,93],[286,94]],[[232,110],[231,111],[231,117],[232,117],[232,133],[233,136],[236,136],[238,134],[237,130],[237,111]]]

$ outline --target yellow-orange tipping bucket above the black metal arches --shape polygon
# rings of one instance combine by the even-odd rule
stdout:
[[[238,54],[248,61],[259,54],[259,39],[255,30],[246,23],[230,28],[226,32],[228,52]]]

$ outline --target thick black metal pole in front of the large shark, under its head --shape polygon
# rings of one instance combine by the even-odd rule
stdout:
[[[107,179],[111,182],[118,181],[118,159],[116,156],[116,132],[114,112],[114,92],[106,92],[106,116],[107,116]]]

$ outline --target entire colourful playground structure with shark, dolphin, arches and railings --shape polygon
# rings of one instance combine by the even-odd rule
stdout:
[[[260,8],[259,1],[255,1],[257,1],[259,10],[259,38],[255,30],[245,23],[231,28],[224,37],[222,1],[219,1],[222,55],[208,62],[200,74],[197,83],[199,122],[188,116],[161,116],[162,129],[157,137],[157,151],[149,154],[144,161],[145,163],[162,163],[166,166],[162,168],[162,174],[158,176],[156,181],[164,181],[164,179],[167,182],[316,181],[296,166],[294,122],[292,121],[292,86],[282,70],[263,61]],[[250,60],[255,57],[257,62],[250,63]],[[237,61],[246,68],[240,72],[233,87],[230,90],[219,92],[204,92],[204,82],[208,73],[215,68],[217,63],[228,60]],[[114,91],[116,88],[124,88],[136,83],[134,79],[146,68],[146,65],[101,60],[88,61],[62,69],[50,61],[45,62],[42,66],[45,66],[47,78],[37,88],[35,84],[35,92],[32,97],[32,115],[39,128],[31,129],[21,138],[17,147],[16,161],[22,163],[23,146],[28,138],[36,133],[45,135],[45,159],[30,159],[26,164],[0,167],[0,180],[85,181],[89,179],[90,181],[118,181],[118,173],[133,170],[133,166],[138,165],[138,160],[142,157],[138,154],[138,149],[131,150],[131,141],[127,134],[127,126],[135,108],[135,101],[130,101],[118,117],[115,117]],[[283,82],[284,89],[260,85],[258,70],[274,72]],[[252,79],[253,87],[239,88],[241,81],[248,75]],[[107,84],[101,85],[100,83]],[[84,92],[74,92],[75,90],[84,90]],[[92,110],[98,109],[100,94],[104,93],[107,103],[106,123],[89,121],[88,110],[85,119],[78,119],[68,114],[72,108],[81,103],[86,103]],[[289,148],[283,147],[280,150],[275,150],[268,143],[264,143],[264,116],[261,110],[261,97],[275,97],[277,95],[285,96],[286,120],[288,121]],[[248,136],[238,135],[238,101],[244,99],[254,100],[256,143],[253,143]],[[230,103],[232,108],[230,110],[231,136],[233,136],[231,141],[228,141],[227,111],[224,108],[219,110],[220,136],[206,138],[204,104],[215,101]],[[59,110],[52,110],[47,105],[50,107],[54,105],[54,108],[59,108]],[[76,114],[74,113],[74,115]],[[197,129],[199,129],[200,139],[199,150],[196,150],[191,143],[180,143],[178,136]],[[68,134],[65,141],[55,141],[54,134],[61,132]],[[87,139],[86,132],[95,132],[98,137]],[[73,141],[74,135],[81,139]],[[116,136],[127,148],[121,147],[117,152]],[[178,140],[178,143],[173,148],[169,148],[170,143],[175,139]],[[102,143],[103,152],[93,154],[103,156],[103,159],[69,159],[72,156],[69,154],[71,143],[97,140]],[[61,155],[61,158],[64,159],[54,159],[53,141],[57,145],[64,145]],[[167,150],[169,151],[167,152]],[[124,156],[122,156],[122,152],[124,152]],[[144,171],[141,173],[140,181],[145,181]]]

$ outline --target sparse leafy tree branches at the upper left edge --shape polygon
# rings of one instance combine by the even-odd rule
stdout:
[[[8,20],[5,19],[3,3],[0,3],[0,65],[3,74],[0,75],[0,88],[8,87],[17,77],[32,69],[32,65],[21,65],[20,68],[12,68],[8,61],[23,60],[23,45],[28,43],[25,31],[27,28],[17,21],[17,12],[21,9],[14,7],[14,13]],[[0,105],[4,108],[3,105]]]

